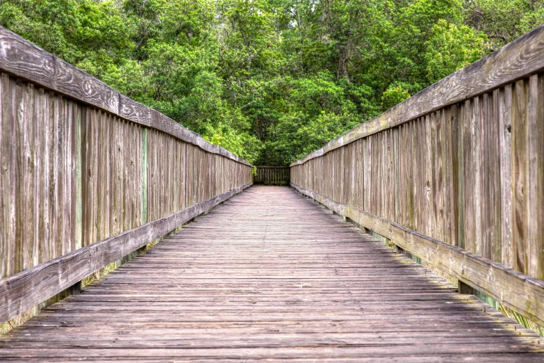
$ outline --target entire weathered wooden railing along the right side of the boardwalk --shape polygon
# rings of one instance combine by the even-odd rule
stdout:
[[[544,28],[291,165],[291,185],[544,325]]]

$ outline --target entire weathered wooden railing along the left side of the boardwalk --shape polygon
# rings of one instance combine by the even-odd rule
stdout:
[[[0,321],[251,185],[251,164],[0,27]]]

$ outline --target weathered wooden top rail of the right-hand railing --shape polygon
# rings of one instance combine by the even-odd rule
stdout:
[[[544,69],[544,26],[514,40],[480,61],[447,76],[352,131],[329,141],[290,166],[322,156],[354,140],[397,127],[440,108],[490,92]]]

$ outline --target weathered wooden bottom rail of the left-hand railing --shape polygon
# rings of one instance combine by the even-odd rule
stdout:
[[[83,277],[164,236],[250,185],[234,188],[204,202],[192,204],[170,216],[92,243],[0,280],[0,321],[8,321],[56,293],[60,293],[82,280]]]

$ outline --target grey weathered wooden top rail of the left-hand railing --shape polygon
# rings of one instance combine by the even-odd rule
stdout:
[[[199,134],[133,99],[119,94],[105,83],[36,47],[0,26],[0,71],[108,111],[146,127],[158,129],[212,154],[251,166],[244,159],[222,147],[208,143]]]

